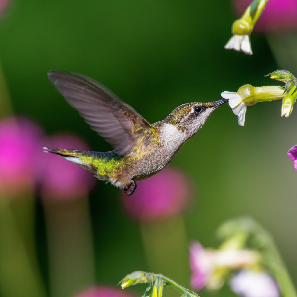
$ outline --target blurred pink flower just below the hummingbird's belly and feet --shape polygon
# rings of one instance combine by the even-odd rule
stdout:
[[[128,215],[137,221],[172,217],[182,213],[190,202],[191,185],[181,171],[165,168],[137,182],[137,189],[122,201]]]

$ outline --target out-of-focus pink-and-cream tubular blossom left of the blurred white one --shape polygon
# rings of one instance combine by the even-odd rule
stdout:
[[[205,249],[199,242],[189,247],[189,261],[192,271],[191,286],[195,290],[203,287],[218,289],[224,280],[217,272],[220,269],[233,270],[253,265],[259,261],[259,254],[245,249]]]

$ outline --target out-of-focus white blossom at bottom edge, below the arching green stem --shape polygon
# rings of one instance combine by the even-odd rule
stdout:
[[[243,297],[279,297],[275,280],[266,272],[242,270],[230,283],[231,290]]]

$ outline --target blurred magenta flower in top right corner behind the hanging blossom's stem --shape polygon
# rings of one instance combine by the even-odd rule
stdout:
[[[236,13],[241,16],[252,0],[233,0]],[[255,25],[258,32],[297,29],[297,0],[269,0]]]

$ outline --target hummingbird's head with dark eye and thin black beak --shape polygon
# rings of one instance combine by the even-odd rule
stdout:
[[[186,132],[188,137],[192,137],[204,125],[210,114],[225,102],[228,100],[185,103],[173,110],[165,122],[175,125],[178,130]]]

